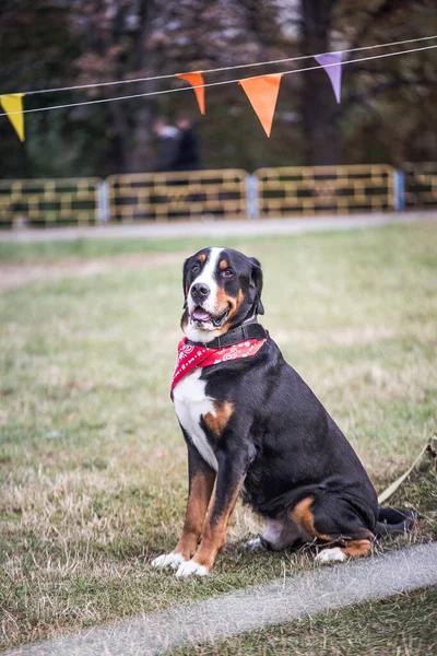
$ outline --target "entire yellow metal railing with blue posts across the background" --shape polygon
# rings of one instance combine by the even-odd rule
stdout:
[[[0,227],[256,219],[437,207],[437,164],[0,180]]]

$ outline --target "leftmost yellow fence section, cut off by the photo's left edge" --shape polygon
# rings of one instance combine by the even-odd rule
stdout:
[[[98,178],[0,180],[0,227],[97,222]]]

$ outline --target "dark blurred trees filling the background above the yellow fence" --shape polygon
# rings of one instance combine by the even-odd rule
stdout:
[[[0,93],[10,93],[414,38],[437,32],[437,12],[435,0],[368,0],[364,5],[355,0],[3,0],[0,24]],[[206,81],[291,70],[296,63],[216,72]],[[435,63],[435,50],[429,50],[346,66],[340,106],[323,70],[285,75],[269,140],[237,84],[208,89],[206,117],[198,125],[203,164],[253,169],[436,159]],[[25,106],[182,86],[188,85],[170,78],[29,95]],[[0,138],[11,156],[0,161],[0,174],[149,171],[154,116],[172,119],[181,109],[198,115],[192,91],[29,114],[24,147],[2,119]]]

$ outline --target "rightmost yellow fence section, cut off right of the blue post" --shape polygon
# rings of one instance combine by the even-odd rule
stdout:
[[[404,172],[405,208],[427,208],[437,206],[437,163],[408,163]]]

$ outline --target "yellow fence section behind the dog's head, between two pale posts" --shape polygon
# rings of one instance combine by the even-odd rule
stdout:
[[[233,168],[113,175],[110,221],[246,218],[246,176]]]

